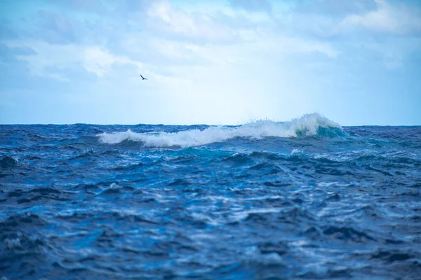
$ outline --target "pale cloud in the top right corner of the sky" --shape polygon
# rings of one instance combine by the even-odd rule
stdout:
[[[323,40],[421,34],[420,7],[410,2],[302,0],[293,11],[279,20],[283,29]]]

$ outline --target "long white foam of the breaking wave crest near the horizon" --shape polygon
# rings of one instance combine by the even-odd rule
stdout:
[[[187,130],[182,132],[136,133],[126,132],[98,134],[101,143],[118,144],[122,141],[140,141],[147,147],[191,147],[226,141],[235,137],[261,139],[262,137],[298,137],[316,135],[319,127],[335,127],[338,124],[318,113],[307,114],[289,122],[258,120],[238,127],[208,127],[206,130]]]

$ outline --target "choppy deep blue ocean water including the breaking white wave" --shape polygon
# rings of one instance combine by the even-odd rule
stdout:
[[[421,127],[0,125],[1,279],[420,279]]]

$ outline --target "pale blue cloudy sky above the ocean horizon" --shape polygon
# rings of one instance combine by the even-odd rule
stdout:
[[[0,73],[3,124],[421,125],[421,1],[0,0]]]

